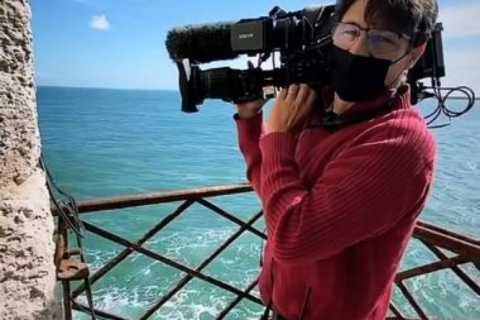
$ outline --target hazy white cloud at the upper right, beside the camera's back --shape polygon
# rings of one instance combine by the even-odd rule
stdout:
[[[444,38],[480,36],[480,3],[440,8],[438,21],[444,25]]]

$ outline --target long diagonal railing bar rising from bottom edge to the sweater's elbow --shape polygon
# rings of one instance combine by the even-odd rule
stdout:
[[[221,245],[217,250],[215,250],[215,252],[213,252],[213,254],[210,255],[208,259],[203,261],[201,265],[199,265],[196,268],[196,271],[201,272],[208,264],[210,264],[210,262],[212,262],[216,257],[218,257],[218,255],[220,255],[221,252],[223,252],[229,245],[231,245],[233,241],[237,240],[240,237],[240,235],[242,235],[242,233],[244,233],[245,230],[247,230],[248,226],[253,225],[253,223],[255,223],[258,219],[260,219],[260,217],[262,217],[262,214],[263,214],[262,211],[260,211],[260,213],[257,213],[255,216],[253,216],[247,223],[243,223],[242,227],[236,233],[234,233],[230,238],[228,238],[228,240],[225,241],[223,245]],[[161,306],[163,306],[166,302],[168,302],[169,299],[171,299],[171,297],[174,297],[174,295],[178,291],[180,291],[183,287],[185,287],[186,284],[190,282],[191,279],[193,279],[193,276],[191,274],[187,274],[185,277],[180,279],[176,287],[174,287],[174,289],[171,289],[170,292],[164,295],[164,297],[161,297],[160,301],[157,302],[154,306],[151,306],[151,308],[148,311],[146,311],[146,313],[140,319],[141,320],[148,319],[149,316],[154,314],[156,310],[161,308]],[[248,293],[249,292],[246,292],[245,294],[248,294]],[[243,299],[243,298],[244,296],[240,297],[240,299]]]

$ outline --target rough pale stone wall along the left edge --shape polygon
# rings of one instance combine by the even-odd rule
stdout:
[[[60,316],[30,19],[28,1],[0,0],[0,319]]]

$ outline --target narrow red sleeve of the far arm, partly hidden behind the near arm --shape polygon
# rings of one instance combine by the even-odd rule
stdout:
[[[240,151],[247,163],[247,179],[253,190],[260,195],[262,153],[259,142],[262,135],[262,112],[250,119],[242,119],[235,114],[234,119],[237,123]]]

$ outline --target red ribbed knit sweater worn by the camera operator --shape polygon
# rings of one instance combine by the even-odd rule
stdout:
[[[409,98],[358,103],[348,114],[389,99],[393,110],[335,132],[262,136],[261,114],[235,117],[267,226],[260,294],[287,319],[385,319],[434,170],[434,138]]]

